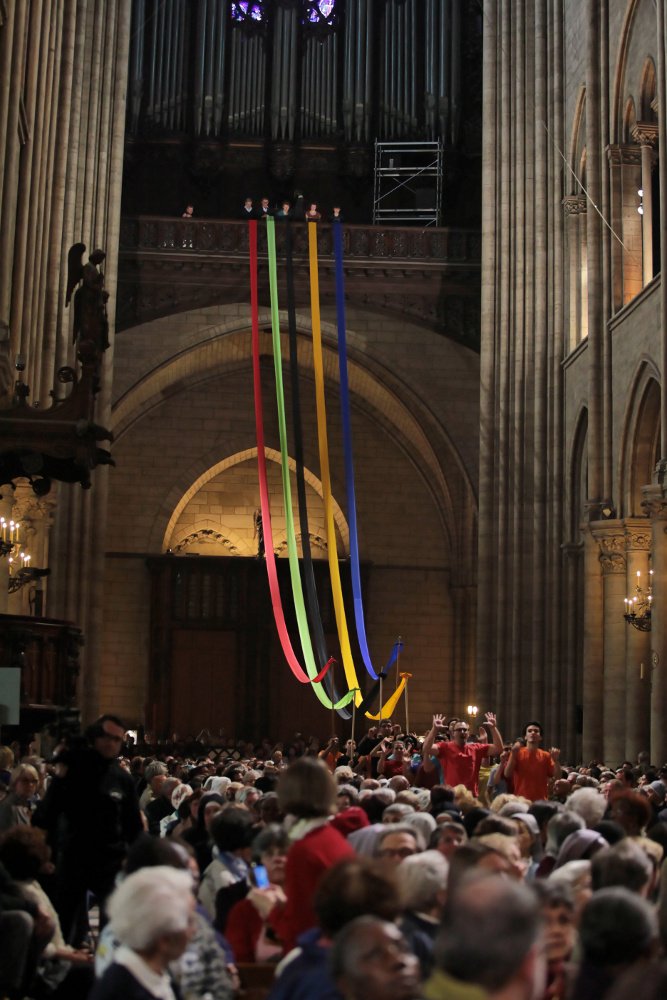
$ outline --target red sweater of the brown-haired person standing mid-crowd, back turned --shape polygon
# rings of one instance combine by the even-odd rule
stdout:
[[[287,902],[274,907],[269,917],[285,954],[295,947],[300,934],[317,926],[313,898],[324,873],[354,853],[354,848],[330,823],[311,830],[292,844],[285,868]]]

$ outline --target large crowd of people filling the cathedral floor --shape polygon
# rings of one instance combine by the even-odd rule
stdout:
[[[0,997],[662,997],[667,766],[542,742],[489,712],[155,747],[105,715],[0,747]]]

